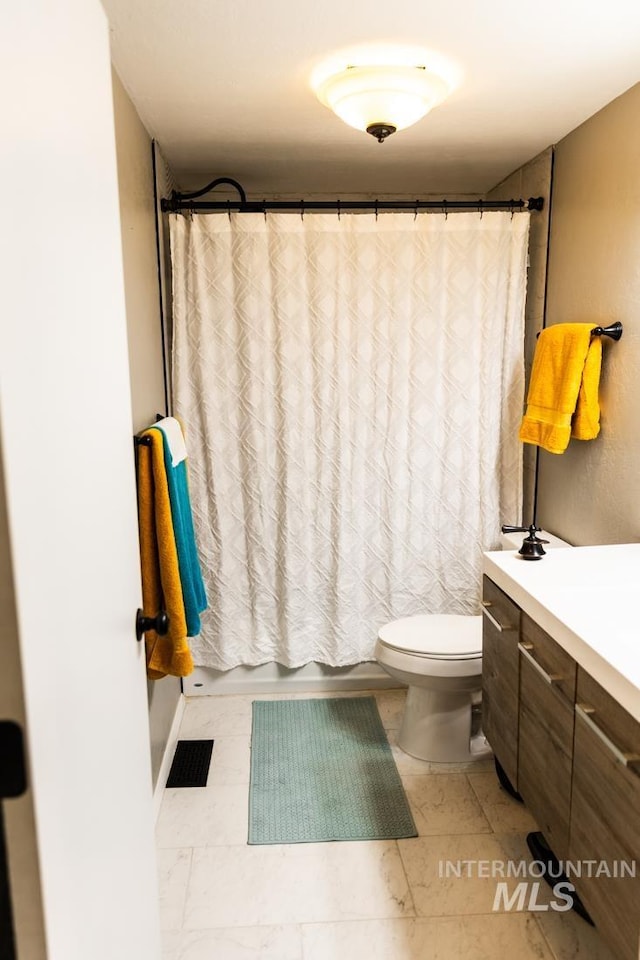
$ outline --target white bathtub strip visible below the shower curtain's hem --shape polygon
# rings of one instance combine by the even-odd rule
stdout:
[[[263,663],[258,667],[235,667],[221,671],[196,667],[183,679],[187,697],[210,697],[220,694],[322,693],[330,690],[380,690],[397,687],[398,681],[375,661],[351,667],[328,667],[308,663],[291,669],[279,663]]]

